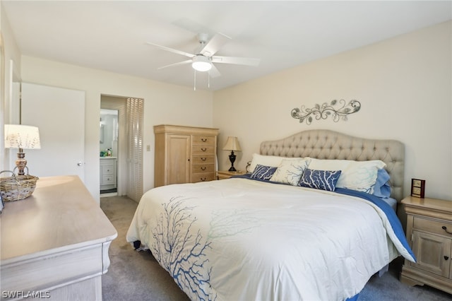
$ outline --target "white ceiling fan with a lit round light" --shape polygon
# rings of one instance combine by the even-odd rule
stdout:
[[[218,77],[220,76],[220,71],[215,67],[214,63],[219,64],[236,64],[236,65],[246,65],[246,66],[258,66],[260,59],[254,59],[251,57],[222,57],[218,55],[214,55],[218,50],[225,45],[230,37],[227,35],[223,35],[222,33],[215,34],[210,40],[208,40],[208,34],[199,33],[198,34],[198,42],[199,47],[196,49],[194,53],[184,52],[177,49],[172,49],[169,47],[165,47],[162,45],[157,45],[151,42],[147,42],[148,45],[153,45],[162,50],[166,50],[168,52],[174,52],[176,54],[182,54],[185,57],[189,57],[186,61],[179,61],[174,64],[169,64],[167,66],[159,67],[158,69],[167,68],[170,66],[179,66],[184,64],[191,64],[193,69],[201,72],[208,72],[210,77]]]

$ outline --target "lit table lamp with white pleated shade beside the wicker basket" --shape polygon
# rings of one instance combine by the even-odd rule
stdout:
[[[18,175],[25,175],[27,166],[24,149],[41,148],[40,132],[36,126],[5,124],[5,148],[18,148],[16,167]]]

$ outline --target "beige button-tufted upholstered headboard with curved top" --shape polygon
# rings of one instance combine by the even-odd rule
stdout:
[[[403,199],[405,146],[396,140],[358,138],[326,129],[301,131],[276,141],[263,141],[261,155],[318,159],[381,160],[391,176],[391,197]]]

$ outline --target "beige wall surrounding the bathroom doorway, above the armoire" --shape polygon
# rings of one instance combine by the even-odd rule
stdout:
[[[100,96],[143,98],[144,146],[143,190],[154,186],[154,133],[156,124],[213,126],[213,94],[193,88],[169,85],[144,78],[83,68],[56,61],[22,57],[22,80],[27,83],[83,90],[85,100],[85,184],[99,199]],[[68,112],[70,113],[70,112]]]

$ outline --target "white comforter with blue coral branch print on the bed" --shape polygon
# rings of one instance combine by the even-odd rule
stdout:
[[[332,192],[223,179],[146,192],[141,240],[191,300],[344,300],[398,256],[385,216]]]

